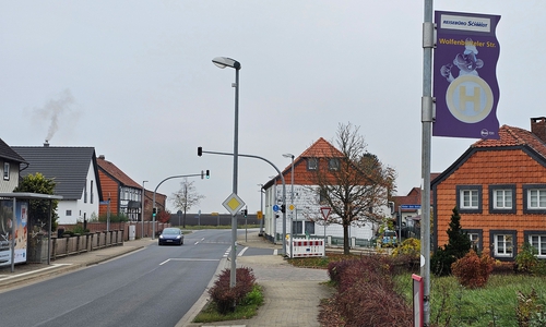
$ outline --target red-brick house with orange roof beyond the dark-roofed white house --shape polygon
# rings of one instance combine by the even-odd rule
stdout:
[[[98,156],[98,175],[103,189],[103,197],[109,199],[110,215],[124,215],[129,221],[141,221],[142,185],[127,175],[112,162],[106,160],[104,155]],[[144,190],[144,220],[152,220],[153,192]],[[156,208],[165,209],[167,196],[155,194]],[[108,205],[100,205],[100,216],[106,215]]]

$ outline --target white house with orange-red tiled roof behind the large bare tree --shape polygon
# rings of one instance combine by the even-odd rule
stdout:
[[[294,196],[292,194],[292,162],[282,171],[286,185],[286,233],[295,235],[308,234],[317,237],[343,238],[343,227],[339,223],[332,223],[324,228],[321,223],[321,204],[317,198],[316,192],[311,192],[316,171],[319,167],[328,167],[329,170],[340,168],[340,158],[343,154],[324,138],[320,137],[301,155],[294,158]],[[276,175],[268,181],[264,190],[264,234],[271,241],[282,240],[283,214],[274,211],[273,207],[281,207],[283,203],[283,185],[281,175]],[[290,201],[294,197],[294,210],[289,210]],[[387,199],[384,201],[387,204]],[[387,205],[376,208],[381,215],[387,214]],[[332,215],[334,216],[334,215]],[[335,218],[335,217],[330,218]],[[349,235],[353,239],[370,240],[375,237],[378,225],[371,222],[363,223],[360,227],[352,226]]]

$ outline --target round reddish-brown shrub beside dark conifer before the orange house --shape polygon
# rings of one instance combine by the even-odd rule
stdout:
[[[489,255],[482,254],[479,257],[474,250],[471,250],[451,266],[451,270],[459,283],[475,289],[487,283],[494,264],[495,261]]]

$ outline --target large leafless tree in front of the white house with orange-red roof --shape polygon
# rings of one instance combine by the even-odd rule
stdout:
[[[367,152],[367,144],[358,131],[359,128],[351,123],[339,125],[332,142],[336,147],[317,155],[318,165],[311,177],[314,185],[309,186],[319,204],[331,208],[331,218],[323,223],[343,226],[345,254],[349,253],[349,227],[380,223],[384,218],[381,208],[388,205],[395,191],[396,172]],[[313,220],[321,219],[316,217]]]

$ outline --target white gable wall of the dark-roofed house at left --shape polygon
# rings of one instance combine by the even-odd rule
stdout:
[[[90,220],[92,216],[98,217],[99,194],[97,181],[95,179],[93,162],[90,160],[85,186],[82,190],[82,196],[79,199],[61,199],[57,207],[59,215],[58,223],[72,225]]]

